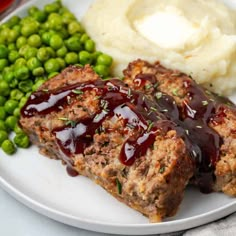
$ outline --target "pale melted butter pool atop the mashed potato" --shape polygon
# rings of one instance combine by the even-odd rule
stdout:
[[[198,28],[178,11],[155,12],[136,19],[134,27],[149,41],[161,48],[184,48]]]

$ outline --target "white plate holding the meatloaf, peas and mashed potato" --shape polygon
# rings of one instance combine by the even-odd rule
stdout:
[[[13,14],[23,16],[29,5]],[[80,18],[92,0],[64,0]],[[233,1],[228,1],[233,3]],[[236,101],[236,99],[234,99]],[[157,234],[199,226],[236,211],[236,199],[221,193],[204,195],[188,188],[177,215],[150,224],[147,218],[107,194],[82,176],[69,177],[59,161],[38,154],[36,147],[6,156],[0,151],[0,185],[16,199],[57,221],[98,232],[116,234]]]

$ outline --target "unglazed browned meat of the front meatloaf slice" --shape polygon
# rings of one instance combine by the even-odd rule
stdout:
[[[69,67],[46,82],[40,90],[54,90],[68,83],[97,79],[100,78],[89,66]],[[151,222],[173,216],[182,201],[184,188],[193,175],[193,164],[185,142],[175,130],[157,134],[153,146],[131,166],[119,161],[122,144],[132,132],[123,132],[121,118],[116,121],[106,119],[102,124],[103,129],[112,132],[95,134],[92,144],[83,154],[73,155],[68,160],[60,152],[52,129],[63,125],[59,117],[68,116],[74,121],[92,117],[99,106],[93,93],[86,91],[80,95],[80,99],[72,99],[71,105],[59,112],[21,117],[20,124],[42,154],[68,162],[79,174],[88,176],[118,200],[148,216]]]

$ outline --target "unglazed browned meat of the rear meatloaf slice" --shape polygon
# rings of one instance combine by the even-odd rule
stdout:
[[[137,60],[129,64],[124,70],[125,83],[131,88],[135,88],[133,80],[139,74],[152,74],[158,83],[158,90],[172,96],[180,110],[183,109],[183,101],[188,99],[184,81],[192,80],[191,77],[178,70],[170,70],[163,67],[159,62],[150,64],[143,60]],[[147,82],[149,83],[149,82]],[[152,89],[145,90],[147,94],[152,93]],[[207,91],[209,93],[209,91]],[[222,111],[217,110],[215,116]],[[216,164],[214,185],[215,191],[236,196],[236,110],[235,107],[224,106],[225,117],[222,122],[215,123],[210,121],[208,125],[212,127],[223,139],[220,149],[220,160]]]

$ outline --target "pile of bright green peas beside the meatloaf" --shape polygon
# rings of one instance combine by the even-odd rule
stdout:
[[[33,6],[26,17],[13,16],[0,25],[0,146],[5,153],[30,145],[18,120],[31,93],[75,64],[90,64],[106,78],[112,58],[96,51],[94,41],[60,1],[43,9]]]

